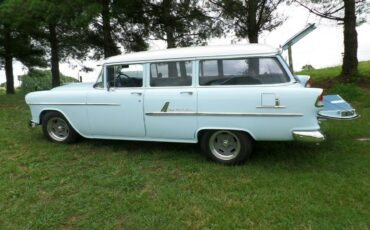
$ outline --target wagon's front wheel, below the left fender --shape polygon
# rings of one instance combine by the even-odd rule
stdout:
[[[77,132],[67,119],[58,112],[48,112],[42,119],[42,131],[46,138],[57,143],[72,143],[78,138]]]

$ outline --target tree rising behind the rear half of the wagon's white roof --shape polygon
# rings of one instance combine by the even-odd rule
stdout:
[[[262,31],[272,31],[285,18],[276,13],[283,0],[209,0],[224,24],[233,29],[238,38],[258,43]]]

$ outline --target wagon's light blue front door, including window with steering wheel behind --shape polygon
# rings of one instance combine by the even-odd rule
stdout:
[[[91,135],[144,137],[143,65],[108,65],[105,76],[106,87],[96,87],[87,95]]]

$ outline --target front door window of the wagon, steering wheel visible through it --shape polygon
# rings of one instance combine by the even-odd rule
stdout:
[[[107,80],[109,87],[142,87],[143,69],[143,65],[141,64],[119,64],[107,66]]]

